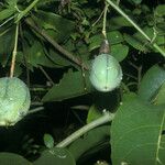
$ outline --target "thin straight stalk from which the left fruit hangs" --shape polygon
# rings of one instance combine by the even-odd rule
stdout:
[[[16,28],[15,28],[15,40],[14,40],[14,48],[12,52],[10,77],[13,77],[14,68],[15,68],[15,58],[16,58],[16,51],[18,51],[18,36],[19,36],[19,23],[16,23]]]

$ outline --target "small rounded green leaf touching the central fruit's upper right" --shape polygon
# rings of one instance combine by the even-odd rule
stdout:
[[[129,46],[117,44],[111,46],[111,55],[118,59],[118,62],[122,62],[129,54]]]

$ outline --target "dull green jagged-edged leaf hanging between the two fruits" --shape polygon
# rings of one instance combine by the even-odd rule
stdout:
[[[86,88],[86,90],[85,90]],[[59,84],[54,85],[50,91],[43,97],[43,101],[62,101],[65,99],[78,97],[90,92],[92,89],[88,74],[85,78],[81,72],[69,70],[59,81]]]

